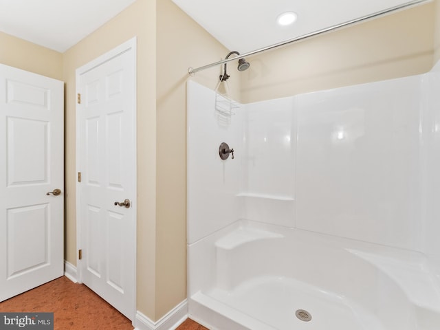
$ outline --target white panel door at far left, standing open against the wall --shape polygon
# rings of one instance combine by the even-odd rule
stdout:
[[[63,93],[0,65],[0,301],[63,276]]]

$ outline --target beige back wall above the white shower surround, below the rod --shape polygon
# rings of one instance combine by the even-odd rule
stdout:
[[[242,101],[428,72],[433,40],[434,3],[428,3],[253,56]]]

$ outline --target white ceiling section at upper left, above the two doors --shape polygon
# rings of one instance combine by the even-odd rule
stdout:
[[[0,0],[0,31],[65,52],[135,0]]]

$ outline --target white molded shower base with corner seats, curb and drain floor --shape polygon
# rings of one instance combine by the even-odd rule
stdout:
[[[237,221],[188,256],[188,314],[211,330],[440,329],[417,252]]]

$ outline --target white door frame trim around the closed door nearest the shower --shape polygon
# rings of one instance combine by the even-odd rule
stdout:
[[[102,63],[105,63],[107,61],[110,61],[112,58],[115,58],[116,56],[119,56],[120,54],[123,54],[125,52],[129,52],[131,51],[131,54],[133,56],[133,63],[135,65],[135,72],[136,72],[136,58],[137,58],[137,51],[136,51],[136,45],[137,45],[137,38],[133,37],[132,39],[130,39],[129,41],[126,41],[125,43],[122,43],[122,45],[119,45],[118,47],[115,47],[113,50],[110,50],[109,52],[99,56],[98,58],[95,58],[93,61],[87,63],[86,65],[83,65],[82,67],[76,69],[76,91],[78,91],[80,89],[80,76],[82,74],[85,74],[86,72],[89,72],[91,69],[94,69],[95,67],[98,67],[99,65],[101,65]],[[137,83],[136,83],[136,74],[134,76],[134,82],[133,85],[136,87]],[[136,97],[136,90],[133,93],[133,104],[134,104],[134,113],[133,113],[133,130],[136,130],[136,112],[137,112],[137,97]],[[78,104],[78,103],[76,103]],[[77,105],[78,107],[78,105]],[[78,129],[80,127],[80,115],[78,115],[78,111],[76,111],[76,174],[78,172],[80,172],[80,135],[78,133]],[[136,139],[135,139],[136,140]],[[136,149],[136,145],[133,146],[133,148]],[[133,173],[137,173],[137,161],[133,162],[133,164],[131,164],[132,166],[132,170]],[[82,214],[82,210],[80,208],[81,203],[81,195],[80,195],[80,182],[78,182],[78,177],[76,178],[76,265],[77,265],[77,280],[78,283],[83,283],[82,282],[82,277],[81,277],[81,267],[78,267],[80,260],[79,260],[79,255],[78,255],[78,250],[81,248],[81,244],[82,244],[82,219],[80,219],[80,215]],[[137,187],[136,187],[136,183],[135,183],[135,194],[133,195],[133,197],[131,197],[131,203],[132,206],[134,208],[136,208],[137,206]],[[135,210],[135,212],[133,212],[134,214],[134,221],[135,224],[137,223],[137,211]],[[137,235],[134,234],[134,237],[136,237]],[[135,243],[134,246],[136,247],[137,244]],[[135,251],[133,251],[133,253],[135,254],[135,260],[136,259],[136,249]],[[133,274],[136,275],[136,263],[134,265],[134,269],[133,269]],[[133,296],[133,306],[134,306],[134,310],[133,310],[133,316],[135,316],[136,314],[136,279],[133,283],[133,292],[134,292],[134,296]],[[134,318],[133,318],[134,321]]]

